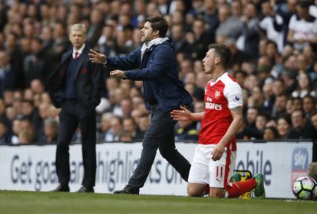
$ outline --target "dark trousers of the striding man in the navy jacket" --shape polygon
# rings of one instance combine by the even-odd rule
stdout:
[[[190,163],[175,149],[175,121],[169,112],[163,112],[159,106],[151,106],[151,124],[144,135],[141,158],[128,184],[143,187],[159,148],[161,156],[173,165],[183,180],[188,180]]]

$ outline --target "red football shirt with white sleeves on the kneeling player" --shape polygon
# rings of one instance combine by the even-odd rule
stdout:
[[[242,106],[242,89],[228,73],[213,82],[210,80],[205,89],[205,113],[201,120],[199,144],[218,144],[232,122],[230,109]],[[237,150],[235,137],[228,149]]]

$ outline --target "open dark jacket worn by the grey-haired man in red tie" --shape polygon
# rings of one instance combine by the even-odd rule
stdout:
[[[88,57],[89,46],[85,46],[81,56],[78,58],[75,77],[75,93],[80,102],[89,108],[95,108],[100,103],[103,92],[103,73],[102,66],[97,63],[91,63]],[[61,65],[49,76],[49,94],[56,108],[60,108],[65,99],[66,71],[73,50],[63,54]]]

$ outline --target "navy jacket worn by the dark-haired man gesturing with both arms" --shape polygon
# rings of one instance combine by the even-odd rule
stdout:
[[[130,80],[143,80],[144,92],[151,90],[164,112],[192,103],[192,96],[178,78],[175,51],[170,40],[151,46],[141,61],[142,45],[125,56],[107,57],[107,65],[125,70]],[[136,68],[139,70],[134,70]],[[149,110],[150,103],[144,101]]]

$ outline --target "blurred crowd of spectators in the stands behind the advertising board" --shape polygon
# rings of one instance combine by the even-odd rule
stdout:
[[[204,111],[209,44],[232,50],[228,73],[242,86],[237,139],[316,138],[317,1],[136,0],[0,1],[0,144],[56,143],[58,113],[47,77],[70,49],[69,27],[83,23],[87,44],[122,56],[141,43],[144,18],[170,25],[191,111]],[[107,74],[109,68],[104,68]],[[104,78],[97,141],[141,141],[149,126],[142,82]],[[197,140],[199,122],[178,122],[175,140]],[[80,130],[73,136],[80,142]]]

